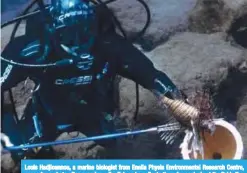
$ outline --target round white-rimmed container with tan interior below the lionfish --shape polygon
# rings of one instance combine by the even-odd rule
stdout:
[[[215,120],[216,130],[211,136],[205,133],[204,159],[242,159],[244,149],[243,141],[238,130],[224,120]],[[181,144],[181,154],[185,160],[202,159],[200,154],[194,158],[191,151],[192,133],[187,132]]]

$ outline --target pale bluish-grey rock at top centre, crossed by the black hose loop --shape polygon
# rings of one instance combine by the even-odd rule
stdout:
[[[197,0],[144,0],[151,12],[151,22],[138,44],[150,50],[169,39],[170,35],[188,28],[189,12]],[[129,36],[141,31],[146,22],[144,7],[135,0],[118,0],[109,5]]]

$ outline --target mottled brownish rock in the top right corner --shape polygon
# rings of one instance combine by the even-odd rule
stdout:
[[[189,30],[199,33],[226,31],[246,0],[198,0],[189,16]]]

